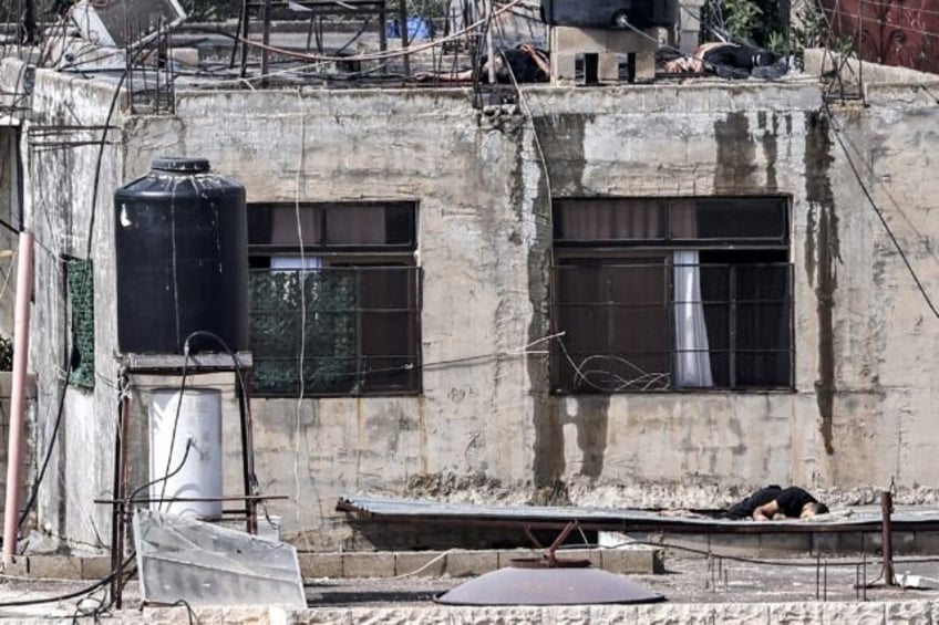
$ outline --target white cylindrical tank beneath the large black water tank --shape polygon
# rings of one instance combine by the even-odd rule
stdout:
[[[178,388],[153,392],[149,476],[154,482],[149,487],[152,499],[221,497],[220,390],[187,388],[182,395]],[[162,480],[165,476],[169,477]],[[151,509],[209,521],[221,518],[221,501],[155,501]]]

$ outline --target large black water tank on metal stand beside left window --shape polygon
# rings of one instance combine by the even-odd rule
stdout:
[[[204,158],[157,158],[114,194],[117,344],[122,353],[182,354],[195,331],[248,346],[245,187]],[[190,352],[221,352],[194,337]]]

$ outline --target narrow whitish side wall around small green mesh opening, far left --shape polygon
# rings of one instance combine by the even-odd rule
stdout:
[[[23,123],[24,135],[30,127],[121,124],[120,103],[107,119],[115,86],[104,80],[38,70],[33,84],[34,108]],[[110,494],[114,477],[117,393],[111,355],[116,325],[109,250],[113,247],[111,198],[123,179],[120,139],[120,132],[112,131],[102,149],[101,131],[72,128],[27,140],[23,146],[24,221],[37,241],[30,368],[37,375],[39,452],[44,454],[53,445],[53,436],[58,437],[42,485],[40,523],[44,530],[85,544],[101,544],[110,538],[110,510],[93,500]],[[83,145],[51,148],[47,143],[61,140]],[[95,393],[69,387],[63,398],[71,346],[64,256],[94,262],[99,378]],[[55,435],[60,404],[63,416]]]

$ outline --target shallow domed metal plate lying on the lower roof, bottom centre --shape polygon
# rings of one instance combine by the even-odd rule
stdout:
[[[437,597],[450,605],[656,603],[664,596],[599,569],[499,569]]]

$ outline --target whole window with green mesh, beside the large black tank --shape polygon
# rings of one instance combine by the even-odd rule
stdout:
[[[256,394],[420,390],[415,226],[412,202],[248,207]]]

